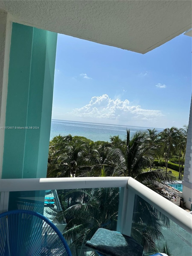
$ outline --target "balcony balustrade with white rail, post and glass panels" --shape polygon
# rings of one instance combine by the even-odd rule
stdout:
[[[58,200],[56,191],[63,201]],[[91,252],[85,248],[89,236],[82,236],[81,244],[74,246],[73,239],[80,233],[66,232],[72,219],[76,224],[82,221],[90,234],[104,227],[131,235],[145,244],[145,255],[154,252],[149,244],[156,228],[163,234],[161,242],[166,241],[171,255],[191,255],[192,215],[131,177],[0,179],[0,192],[0,212],[30,208],[43,213],[65,233],[73,255]],[[61,205],[67,209],[65,212],[61,212]]]

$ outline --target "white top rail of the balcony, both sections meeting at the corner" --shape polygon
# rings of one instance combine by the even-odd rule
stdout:
[[[0,179],[0,192],[113,187],[127,187],[133,190],[135,194],[191,233],[191,214],[131,177]]]

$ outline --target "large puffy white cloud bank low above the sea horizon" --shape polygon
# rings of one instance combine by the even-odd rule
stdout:
[[[89,104],[73,110],[74,116],[82,118],[105,118],[119,121],[126,120],[148,120],[155,121],[159,116],[163,116],[160,110],[143,109],[141,106],[130,106],[127,99],[111,99],[107,94],[94,96]]]

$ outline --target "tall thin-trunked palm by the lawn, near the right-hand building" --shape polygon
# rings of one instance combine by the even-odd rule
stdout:
[[[160,134],[160,140],[164,148],[164,159],[166,167],[166,176],[167,176],[167,163],[170,157],[170,154],[174,151],[176,152],[179,140],[179,132],[176,127],[165,128]]]

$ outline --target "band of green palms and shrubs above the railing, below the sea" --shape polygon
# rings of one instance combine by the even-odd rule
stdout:
[[[168,168],[178,171],[181,179],[186,140],[186,126],[160,133],[127,130],[125,140],[117,135],[110,142],[58,135],[50,141],[47,177],[100,176],[104,167],[106,176],[131,176],[144,184],[171,179]],[[174,159],[178,163],[171,162]],[[165,169],[154,169],[154,165]]]

